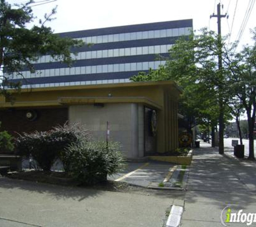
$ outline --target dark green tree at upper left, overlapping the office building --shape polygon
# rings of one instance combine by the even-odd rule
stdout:
[[[52,58],[71,65],[70,48],[83,45],[82,41],[53,34],[51,27],[46,26],[53,19],[56,8],[46,14],[44,20],[39,20],[39,25],[33,25],[36,17],[32,12],[32,3],[10,5],[5,0],[0,1],[0,79],[3,85],[0,94],[5,96],[10,93],[4,88],[20,88],[20,82],[11,82],[15,79],[13,74],[23,76],[21,72],[24,68],[34,72],[32,62],[39,56],[50,54]]]

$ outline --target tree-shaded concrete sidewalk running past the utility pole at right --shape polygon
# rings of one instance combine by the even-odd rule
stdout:
[[[186,189],[181,226],[223,226],[220,214],[226,206],[232,212],[256,212],[256,164],[239,161],[230,152],[220,155],[218,147],[202,143],[194,150]]]

